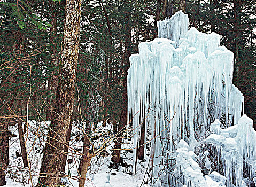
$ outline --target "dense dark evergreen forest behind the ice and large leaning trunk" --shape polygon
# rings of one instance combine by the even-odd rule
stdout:
[[[0,146],[13,136],[10,127],[17,127],[23,137],[26,127],[22,127],[22,122],[51,121],[63,48],[65,5],[63,0],[0,1]],[[234,52],[233,83],[243,93],[244,113],[254,120],[256,128],[254,1],[85,0],[81,2],[71,120],[86,121],[89,139],[89,127],[97,127],[99,121],[112,123],[111,133],[118,134],[114,163],[121,160],[120,137],[127,123],[129,56],[138,53],[140,42],[157,37],[158,20],[180,9],[189,15],[190,27],[203,33],[218,33],[222,36],[221,45]],[[67,136],[70,139],[77,134]],[[88,147],[85,145],[84,149]],[[1,147],[1,151],[6,152],[6,147]],[[6,155],[1,155],[0,162],[5,161]]]

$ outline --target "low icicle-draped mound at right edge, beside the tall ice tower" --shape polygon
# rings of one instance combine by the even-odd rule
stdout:
[[[253,163],[256,160],[256,132],[252,123],[252,119],[243,115],[235,126],[226,129],[220,128],[219,120],[215,120],[211,124],[213,134],[206,138],[206,142],[212,143],[221,150],[223,172],[227,177],[227,186],[232,186],[232,183],[237,186],[244,185],[244,160],[249,163],[250,177],[255,177],[255,165]]]

